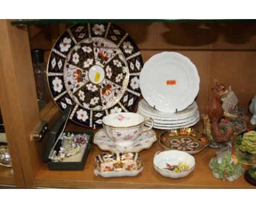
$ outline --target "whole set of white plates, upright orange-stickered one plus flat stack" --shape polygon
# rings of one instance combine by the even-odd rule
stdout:
[[[194,101],[199,83],[197,69],[187,57],[176,52],[156,54],[144,64],[139,76],[144,99],[137,113],[151,117],[155,129],[193,126],[200,119]]]

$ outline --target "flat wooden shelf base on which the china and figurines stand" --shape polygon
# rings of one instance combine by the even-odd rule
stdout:
[[[202,128],[201,121],[194,126]],[[68,123],[66,130],[84,131],[84,127]],[[98,130],[94,130],[97,132]],[[159,135],[160,130],[155,130]],[[255,188],[249,184],[243,176],[234,182],[217,180],[212,176],[212,170],[208,168],[208,163],[215,156],[216,150],[206,148],[199,154],[194,155],[196,167],[194,172],[183,179],[164,178],[153,168],[153,158],[156,151],[163,149],[155,142],[153,147],[141,151],[144,169],[142,173],[135,177],[109,178],[95,176],[95,156],[101,153],[96,145],[92,145],[92,150],[88,156],[85,168],[82,171],[54,171],[48,169],[48,164],[44,164],[36,175],[37,187],[65,187],[65,188]],[[245,166],[245,169],[248,167]]]

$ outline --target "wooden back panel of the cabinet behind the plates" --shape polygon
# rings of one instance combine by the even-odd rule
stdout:
[[[136,42],[146,62],[156,53],[175,51],[197,67],[200,91],[197,105],[204,111],[213,79],[235,91],[247,109],[256,94],[255,22],[116,23]],[[31,48],[43,48],[45,62],[51,47],[68,25],[29,26]]]

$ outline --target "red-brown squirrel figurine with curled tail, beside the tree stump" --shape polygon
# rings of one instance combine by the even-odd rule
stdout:
[[[218,127],[218,120],[223,118],[224,110],[222,108],[222,95],[225,94],[228,89],[223,84],[214,79],[215,87],[213,88],[210,98],[207,103],[207,114],[211,123],[211,134],[217,142],[228,142],[230,137],[235,131],[234,127],[231,127],[227,131],[223,132]]]

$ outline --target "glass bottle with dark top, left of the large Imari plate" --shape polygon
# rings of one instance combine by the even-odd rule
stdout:
[[[44,63],[44,51],[42,49],[31,50],[31,56],[34,79],[36,81],[37,101],[39,109],[42,109],[50,100],[46,78],[46,64]]]

